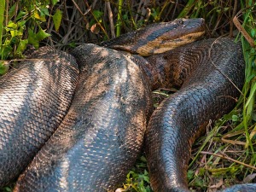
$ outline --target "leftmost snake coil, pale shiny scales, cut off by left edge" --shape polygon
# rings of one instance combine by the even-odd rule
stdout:
[[[19,176],[67,113],[79,68],[47,47],[0,79],[0,186]]]

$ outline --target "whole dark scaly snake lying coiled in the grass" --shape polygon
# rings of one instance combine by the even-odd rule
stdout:
[[[209,119],[234,107],[231,97],[240,93],[233,84],[241,89],[244,77],[241,48],[232,39],[187,44],[201,36],[202,25],[201,19],[174,20],[101,44],[111,49],[95,44],[79,46],[72,52],[79,63],[79,75],[72,56],[42,49],[32,55],[38,61],[24,61],[25,65],[20,65],[24,67],[1,78],[5,84],[11,76],[29,76],[24,77],[27,85],[15,81],[17,87],[26,87],[20,92],[16,91],[19,88],[9,88],[14,92],[8,96],[5,86],[10,83],[0,90],[0,97],[7,101],[0,109],[0,157],[7,159],[0,163],[0,174],[5,177],[0,184],[18,177],[49,139],[20,175],[15,191],[113,191],[137,159],[145,134],[154,191],[188,191],[186,169],[191,144]],[[187,45],[173,49],[184,43]],[[45,70],[43,74],[49,76],[32,76],[30,70],[38,63],[42,64],[39,71]],[[53,69],[55,63],[64,69]],[[20,68],[25,68],[22,73]],[[181,90],[162,102],[148,123],[151,90],[166,86]],[[17,98],[9,100],[13,95]],[[34,102],[39,107],[34,107]],[[9,110],[10,105],[13,110]],[[56,112],[60,108],[59,117]],[[44,111],[50,111],[48,116]],[[35,120],[30,123],[30,119]],[[13,122],[16,125],[10,125]],[[12,163],[19,166],[9,166]],[[225,191],[255,189],[254,184],[245,184]]]

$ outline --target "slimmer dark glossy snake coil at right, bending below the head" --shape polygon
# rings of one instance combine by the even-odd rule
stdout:
[[[245,66],[241,46],[230,38],[208,39],[154,55],[151,60],[178,66],[173,79],[177,84],[184,82],[149,120],[145,151],[150,183],[155,192],[187,192],[192,143],[206,131],[209,120],[229,113],[240,96]],[[256,184],[223,191],[253,192]]]

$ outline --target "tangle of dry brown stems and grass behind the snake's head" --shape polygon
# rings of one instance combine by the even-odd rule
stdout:
[[[58,7],[52,8],[63,11],[61,28],[55,32],[53,22],[49,20],[47,32],[52,37],[47,44],[67,49],[73,44],[98,43],[114,38],[118,26],[120,33],[125,33],[153,22],[170,21],[177,17],[205,18],[208,38],[233,36],[235,27],[232,18],[241,9],[237,1],[189,1],[195,2],[189,4],[187,1],[126,0],[121,8],[118,2],[62,1]],[[118,12],[119,9],[121,13]]]

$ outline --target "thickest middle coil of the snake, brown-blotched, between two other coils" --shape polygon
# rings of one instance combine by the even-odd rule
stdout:
[[[113,191],[141,151],[152,104],[139,67],[95,44],[73,55],[80,64],[73,103],[15,191]]]

